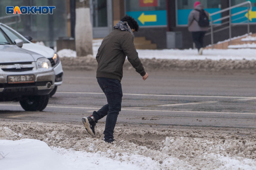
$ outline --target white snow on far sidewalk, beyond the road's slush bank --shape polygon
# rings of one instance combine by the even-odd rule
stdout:
[[[96,56],[98,48],[102,40],[93,40],[93,57]],[[254,44],[256,46],[256,44]],[[253,60],[256,59],[256,49],[205,49],[203,55],[198,55],[197,49],[138,49],[139,58],[156,58],[156,59],[179,59],[179,60]],[[63,49],[58,51],[60,57],[76,57],[76,52],[70,49]]]

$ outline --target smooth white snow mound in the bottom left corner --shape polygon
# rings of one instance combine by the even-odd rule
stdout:
[[[55,154],[45,142],[39,140],[0,140],[0,148],[3,153],[9,153],[1,160],[3,170],[72,169],[71,166],[65,165],[61,157]]]

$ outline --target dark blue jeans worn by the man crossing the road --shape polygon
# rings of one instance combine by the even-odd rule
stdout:
[[[98,77],[97,81],[100,85],[100,88],[107,97],[108,104],[104,105],[97,112],[94,111],[92,116],[95,118],[95,122],[97,123],[99,119],[107,115],[105,130],[103,132],[105,135],[104,138],[114,138],[114,128],[117,123],[117,116],[121,111],[121,103],[123,97],[121,82],[116,79],[102,77]]]

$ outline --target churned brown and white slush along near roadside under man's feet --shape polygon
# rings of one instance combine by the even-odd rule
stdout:
[[[40,140],[59,163],[65,158],[67,166],[91,161],[101,167],[109,161],[130,169],[256,169],[256,133],[239,136],[209,130],[116,127],[116,141],[108,144],[102,140],[102,132],[103,127],[96,127],[92,138],[82,125],[0,122],[0,141]],[[0,148],[3,150],[2,143]],[[11,158],[8,154],[1,161]]]

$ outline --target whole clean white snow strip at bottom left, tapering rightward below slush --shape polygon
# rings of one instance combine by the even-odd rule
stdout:
[[[1,169],[5,170],[139,169],[135,164],[115,161],[100,154],[50,148],[45,142],[35,139],[0,140],[0,146],[3,152],[9,153],[1,160]]]

